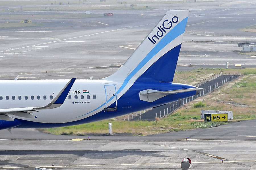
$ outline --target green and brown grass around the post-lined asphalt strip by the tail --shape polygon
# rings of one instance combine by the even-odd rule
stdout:
[[[200,71],[200,72],[197,72]],[[167,133],[173,131],[183,131],[188,129],[211,128],[234,122],[238,120],[249,120],[256,118],[256,69],[195,69],[192,71],[176,72],[174,82],[183,80],[189,84],[194,80],[187,78],[193,76],[195,80],[205,79],[207,76],[222,71],[223,74],[242,74],[241,78],[224,84],[218,90],[204,95],[177,109],[173,114],[168,114],[165,118],[157,118],[157,121],[123,121],[123,116],[118,118],[92,122],[77,126],[67,126],[61,128],[41,129],[53,134],[103,134],[108,133],[108,122],[112,123],[113,133],[129,133],[133,135],[150,135],[157,133]],[[178,75],[178,76],[177,76]],[[204,122],[200,118],[201,110],[226,110],[233,111],[233,120],[228,122]],[[136,115],[136,114],[135,114]],[[130,114],[130,118],[131,118]],[[136,119],[136,117],[134,118]]]

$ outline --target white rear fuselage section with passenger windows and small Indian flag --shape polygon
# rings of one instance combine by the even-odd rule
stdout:
[[[1,80],[0,109],[14,108],[14,106],[37,107],[47,105],[52,100],[50,96],[54,98],[68,81]],[[109,84],[113,84],[113,82],[107,80],[76,80],[61,107],[33,112],[37,116],[36,119],[13,117],[42,123],[66,123],[89,117],[106,107],[104,105],[98,108],[106,103],[104,85]],[[115,85],[117,84],[115,83]],[[27,99],[25,99],[26,96]]]

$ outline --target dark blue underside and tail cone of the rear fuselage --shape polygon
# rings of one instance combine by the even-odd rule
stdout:
[[[177,51],[177,49],[180,48],[180,45],[176,46],[172,50],[170,50],[166,55],[172,54],[172,52]],[[156,61],[156,64],[162,63],[163,60],[166,60],[166,58],[160,58]],[[151,67],[154,67],[152,65]],[[147,69],[151,70],[152,68],[149,67]],[[147,72],[146,71],[146,72]],[[145,72],[145,74],[146,74]],[[50,127],[59,127],[59,126],[71,126],[71,125],[77,125],[77,124],[83,124],[83,123],[90,123],[98,120],[104,120],[108,118],[113,118],[116,116],[121,116],[124,114],[129,114],[131,112],[136,112],[140,110],[144,110],[150,107],[162,105],[165,103],[170,103],[172,101],[176,101],[179,98],[185,98],[189,97],[191,95],[195,95],[196,92],[184,92],[179,94],[172,94],[167,95],[165,97],[162,97],[154,102],[147,102],[142,101],[139,99],[139,92],[145,89],[153,89],[153,90],[160,90],[160,91],[167,91],[167,90],[177,90],[177,89],[186,89],[186,88],[193,88],[194,86],[186,85],[186,84],[178,84],[178,83],[169,83],[169,82],[159,82],[154,79],[149,79],[145,83],[145,75],[141,75],[135,83],[129,88],[129,90],[118,99],[117,101],[117,111],[115,112],[104,112],[100,111],[92,116],[89,116],[87,118],[73,121],[73,122],[67,122],[67,123],[39,123],[39,122],[30,122],[26,120],[19,120],[21,122],[21,125],[17,128],[50,128]]]

